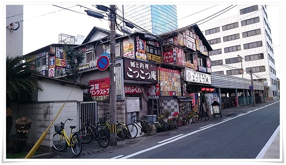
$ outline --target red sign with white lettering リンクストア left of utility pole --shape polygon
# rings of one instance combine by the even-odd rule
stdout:
[[[92,86],[89,89],[91,97],[109,95],[110,78],[91,80],[89,85]]]

